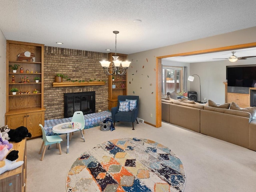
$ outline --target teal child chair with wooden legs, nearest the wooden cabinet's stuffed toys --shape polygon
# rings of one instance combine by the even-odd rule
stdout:
[[[58,136],[58,135],[47,136],[46,133],[45,133],[44,127],[41,124],[39,124],[39,126],[42,129],[42,135],[43,135],[43,143],[42,143],[42,146],[40,148],[39,154],[41,154],[42,148],[44,146],[44,150],[43,150],[41,161],[44,159],[44,154],[45,154],[46,146],[48,146],[48,145],[49,145],[49,148],[50,148],[51,144],[55,144],[56,143],[56,146],[57,146],[57,148],[59,148],[60,154],[61,154],[60,142],[62,141],[62,138],[60,136]]]

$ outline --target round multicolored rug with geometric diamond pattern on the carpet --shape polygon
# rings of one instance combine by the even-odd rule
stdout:
[[[67,192],[182,192],[180,159],[152,140],[121,138],[98,144],[72,164]]]

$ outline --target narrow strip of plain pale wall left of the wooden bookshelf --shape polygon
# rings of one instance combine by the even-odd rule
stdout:
[[[4,126],[6,112],[6,38],[0,30],[0,127]]]

